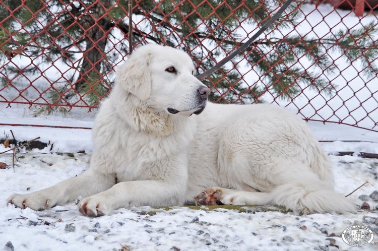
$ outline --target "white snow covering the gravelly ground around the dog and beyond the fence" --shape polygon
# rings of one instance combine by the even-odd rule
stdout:
[[[329,6],[326,6],[330,8]],[[328,14],[330,23],[340,17]],[[313,6],[306,7],[311,13]],[[318,23],[317,12],[307,18]],[[344,23],[357,19],[349,15]],[[355,22],[354,22],[355,23]],[[322,32],[324,23],[313,32]],[[323,27],[323,28],[322,28]],[[351,73],[348,73],[351,74]],[[370,85],[372,85],[370,82]],[[376,80],[374,82],[376,84]],[[375,90],[375,89],[374,89]],[[306,103],[305,100],[296,100]],[[317,100],[311,104],[316,107]],[[323,101],[322,101],[323,102]],[[74,202],[45,211],[19,209],[6,203],[13,193],[29,193],[49,187],[61,180],[82,173],[92,151],[91,130],[61,129],[56,126],[91,128],[95,111],[73,109],[68,116],[42,115],[21,105],[0,103],[0,123],[34,124],[51,127],[1,126],[0,133],[12,139],[11,130],[19,141],[41,137],[49,143],[43,149],[22,149],[0,154],[0,250],[378,250],[378,202],[368,199],[372,210],[359,210],[344,215],[248,212],[238,210],[193,210],[171,207],[169,210],[151,207],[118,209],[111,216],[83,216]],[[321,102],[318,105],[322,105]],[[300,105],[299,105],[300,107]],[[319,107],[319,106],[318,106]],[[290,108],[290,107],[289,107]],[[311,111],[308,111],[312,114]],[[303,113],[306,113],[304,110]],[[342,116],[342,115],[340,115]],[[374,121],[378,114],[372,113]],[[378,190],[378,160],[361,158],[358,152],[378,153],[378,133],[337,123],[309,121],[308,126],[322,141],[322,146],[334,163],[335,190],[361,205],[361,195]],[[0,136],[3,138],[3,135]],[[330,142],[328,142],[330,141]],[[0,152],[6,151],[0,144]],[[356,152],[353,156],[334,156],[337,151]],[[78,153],[81,152],[81,153]],[[83,153],[84,152],[84,153]],[[73,154],[69,154],[73,153]],[[4,203],[3,203],[4,202]],[[248,209],[248,208],[246,208]],[[364,247],[351,247],[341,239],[342,231],[354,224],[368,226],[375,237]],[[331,243],[335,243],[332,245]]]

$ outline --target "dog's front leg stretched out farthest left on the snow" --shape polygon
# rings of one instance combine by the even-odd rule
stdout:
[[[86,197],[105,191],[114,183],[115,177],[95,173],[89,169],[74,178],[57,183],[47,189],[26,195],[14,194],[8,199],[8,203],[19,208],[28,207],[33,210],[43,210],[74,201],[79,196]]]

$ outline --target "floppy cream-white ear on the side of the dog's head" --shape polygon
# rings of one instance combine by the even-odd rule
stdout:
[[[117,83],[141,100],[151,95],[150,60],[151,53],[137,50],[117,69]]]

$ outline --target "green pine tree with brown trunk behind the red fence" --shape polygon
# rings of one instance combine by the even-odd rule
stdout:
[[[240,45],[244,39],[238,29],[241,24],[260,27],[278,8],[279,2],[165,0],[157,4],[146,0],[133,5],[133,21],[137,23],[133,27],[133,44],[154,42],[181,48],[194,57],[197,73],[201,73]],[[364,29],[340,31],[333,37],[322,39],[299,35],[273,37],[271,32],[274,29],[294,29],[299,15],[297,5],[289,7],[287,13],[290,15],[281,17],[275,26],[270,27],[267,36],[203,79],[207,86],[214,87],[210,100],[261,102],[259,96],[266,91],[276,97],[291,99],[301,92],[301,86],[330,95],[333,87],[323,72],[332,72],[335,67],[326,53],[331,48],[342,53],[346,51],[347,60],[360,60],[366,66],[366,75],[376,75],[378,71],[373,60],[378,52],[370,38],[376,32],[374,23]],[[97,104],[114,82],[113,67],[130,52],[127,40],[123,39],[130,31],[127,15],[127,0],[52,0],[46,3],[29,0],[25,6],[19,1],[2,1],[0,50],[3,53],[0,53],[0,59],[12,59],[17,54],[29,57],[33,64],[21,70],[30,75],[40,74],[40,66],[60,60],[76,73],[54,80],[62,83],[52,85],[49,92],[43,93],[45,98],[62,106],[83,102]],[[23,24],[24,30],[20,30],[19,23]],[[301,57],[311,62],[313,71],[296,64]],[[239,68],[243,60],[254,66],[254,71],[261,76],[259,80],[242,78]],[[20,73],[20,69],[11,64],[0,67],[0,71],[3,84],[7,83],[5,76]]]

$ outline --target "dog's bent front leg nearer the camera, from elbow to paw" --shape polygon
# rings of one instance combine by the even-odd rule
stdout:
[[[158,180],[125,181],[109,190],[84,198],[79,211],[87,216],[109,215],[117,208],[130,206],[182,205],[185,186]]]

